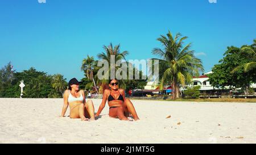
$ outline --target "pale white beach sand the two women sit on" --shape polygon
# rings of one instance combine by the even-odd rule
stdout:
[[[59,117],[63,99],[0,98],[0,143],[256,143],[256,103],[132,102],[139,122],[109,118],[107,105],[81,122]]]

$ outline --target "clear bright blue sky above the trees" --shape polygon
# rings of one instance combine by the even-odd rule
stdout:
[[[3,0],[0,1],[0,68],[34,67],[67,80],[81,79],[81,61],[102,46],[121,44],[127,59],[155,57],[160,35],[188,36],[205,70],[218,63],[226,47],[256,38],[255,0]]]

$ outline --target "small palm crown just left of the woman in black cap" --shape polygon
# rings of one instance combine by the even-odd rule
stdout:
[[[61,74],[55,74],[52,77],[52,87],[58,92],[63,94],[64,90],[67,89],[66,78]]]

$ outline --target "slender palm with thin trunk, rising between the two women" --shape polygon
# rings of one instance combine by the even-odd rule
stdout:
[[[88,79],[93,81],[94,88],[96,89],[96,91],[98,93],[96,82],[93,77],[93,70],[94,70],[95,66],[96,66],[96,61],[94,61],[94,58],[87,55],[87,58],[84,58],[84,60],[82,60],[81,70],[84,71],[84,73],[86,74],[86,77]]]

